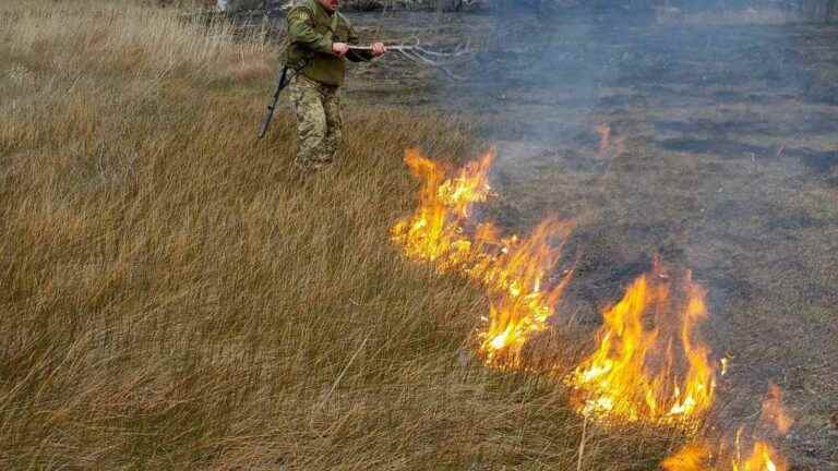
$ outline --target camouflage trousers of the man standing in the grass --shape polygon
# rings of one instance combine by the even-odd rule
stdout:
[[[337,87],[297,75],[289,93],[297,116],[297,167],[309,170],[332,164],[343,141]]]

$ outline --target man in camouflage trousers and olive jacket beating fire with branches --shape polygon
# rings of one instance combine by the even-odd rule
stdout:
[[[299,70],[289,93],[297,116],[297,167],[303,171],[332,164],[340,150],[342,122],[338,89],[346,60],[368,61],[386,52],[381,43],[369,51],[350,50],[358,36],[344,15],[339,0],[300,0],[288,12],[286,64]]]

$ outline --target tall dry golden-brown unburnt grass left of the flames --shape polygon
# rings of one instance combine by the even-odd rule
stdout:
[[[561,388],[463,361],[478,291],[387,242],[462,126],[352,104],[300,181],[259,34],[33,0],[0,40],[0,469],[575,469]],[[583,469],[669,442],[589,426]]]

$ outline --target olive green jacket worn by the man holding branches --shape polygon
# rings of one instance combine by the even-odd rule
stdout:
[[[358,44],[358,35],[343,14],[330,13],[318,0],[301,0],[288,12],[285,61],[300,73],[324,85],[340,86],[346,59],[370,60],[370,53],[349,51],[346,58],[332,53],[332,43]]]

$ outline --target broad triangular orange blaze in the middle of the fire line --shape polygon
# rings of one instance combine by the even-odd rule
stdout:
[[[685,294],[682,309],[673,310],[668,279],[644,275],[603,313],[599,347],[567,378],[580,413],[683,425],[704,415],[716,377],[707,347],[694,340],[696,325],[707,317],[705,292],[687,276]],[[646,327],[650,317],[657,327]],[[673,321],[678,333],[665,329]]]

